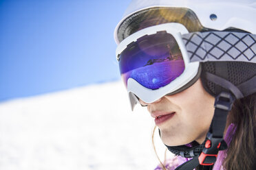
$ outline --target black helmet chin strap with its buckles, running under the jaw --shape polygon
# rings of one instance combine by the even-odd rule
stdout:
[[[169,151],[175,155],[193,158],[175,170],[193,170],[198,165],[211,166],[215,163],[218,152],[227,149],[223,134],[226,127],[226,117],[232,108],[234,100],[231,93],[226,92],[222,92],[215,97],[214,116],[204,143],[195,147],[187,147],[185,145],[178,147],[167,146]]]

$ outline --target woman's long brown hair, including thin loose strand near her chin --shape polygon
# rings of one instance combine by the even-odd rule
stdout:
[[[256,93],[242,99],[237,99],[234,102],[233,108],[228,114],[226,127],[231,123],[235,124],[235,134],[227,149],[224,169],[253,169],[253,166],[256,166]],[[156,156],[158,157],[153,142],[155,130],[156,126],[153,129],[152,143]],[[159,157],[158,160],[160,161]],[[164,162],[160,161],[160,165],[165,170]]]

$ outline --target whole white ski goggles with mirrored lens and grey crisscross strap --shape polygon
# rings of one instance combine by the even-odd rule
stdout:
[[[255,56],[256,45],[250,38],[255,35],[189,33],[180,23],[164,23],[131,34],[118,45],[116,58],[132,110],[138,98],[152,103],[191,86],[200,76],[200,62],[256,60],[245,55],[249,50]],[[240,42],[246,47],[238,47]]]

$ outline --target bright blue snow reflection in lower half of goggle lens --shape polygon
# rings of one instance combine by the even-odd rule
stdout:
[[[142,86],[156,90],[166,86],[184,71],[183,60],[164,60],[146,64],[127,73],[122,74],[125,82],[130,77]]]

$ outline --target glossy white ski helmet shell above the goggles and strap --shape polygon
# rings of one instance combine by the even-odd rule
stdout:
[[[143,18],[148,19],[149,13],[149,17],[164,9],[180,13],[182,8],[184,12],[189,13],[190,19],[198,20],[198,25],[203,29],[222,31],[236,28],[256,34],[255,0],[133,0],[116,26],[114,32],[116,43],[119,44],[127,36],[136,32],[134,26],[138,27],[136,24],[141,23]],[[175,22],[168,20],[165,23]],[[185,20],[184,22],[187,22],[189,19]]]

